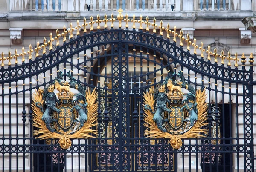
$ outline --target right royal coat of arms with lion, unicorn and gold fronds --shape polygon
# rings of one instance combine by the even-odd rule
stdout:
[[[186,98],[183,98],[182,88],[189,91]],[[171,73],[156,92],[146,92],[143,97],[147,137],[170,138],[171,146],[179,149],[182,138],[199,138],[204,137],[202,133],[207,133],[201,129],[208,124],[205,89],[195,90],[185,80],[183,72]]]

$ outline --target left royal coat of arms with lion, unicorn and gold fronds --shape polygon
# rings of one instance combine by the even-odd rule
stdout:
[[[38,89],[32,94],[33,126],[38,128],[34,135],[39,139],[59,139],[63,149],[71,146],[72,138],[96,138],[97,135],[92,129],[97,125],[96,89],[84,90],[70,72],[66,76],[70,81],[63,80],[63,74],[58,72],[58,77],[44,90]],[[71,89],[79,92],[75,99]]]

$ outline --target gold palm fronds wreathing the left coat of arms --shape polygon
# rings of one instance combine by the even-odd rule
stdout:
[[[87,117],[88,120],[84,123],[84,126],[79,129],[77,132],[71,134],[71,135],[62,135],[57,132],[50,132],[45,123],[43,122],[42,115],[43,112],[41,112],[40,108],[38,108],[35,103],[40,102],[41,104],[44,103],[43,99],[43,90],[35,90],[34,93],[32,93],[32,111],[33,111],[33,123],[32,125],[37,127],[38,130],[34,131],[34,135],[37,139],[60,139],[60,146],[63,149],[68,149],[71,146],[70,139],[73,138],[96,138],[97,131],[92,129],[93,126],[97,125],[97,109],[98,109],[98,93],[96,92],[96,88],[93,89],[91,92],[91,89],[87,89],[85,92],[86,100],[87,100]],[[93,136],[94,135],[94,136]]]

